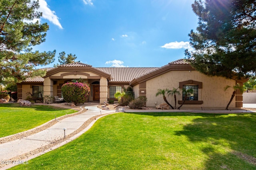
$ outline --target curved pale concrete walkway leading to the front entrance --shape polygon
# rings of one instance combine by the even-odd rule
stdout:
[[[18,161],[22,160],[22,157],[26,157],[26,159],[23,159],[25,163],[26,160],[30,160],[36,156],[44,154],[45,152],[58,148],[82,135],[92,126],[92,124],[96,121],[96,118],[95,121],[91,122],[90,125],[88,125],[85,129],[82,129],[82,131],[76,133],[74,136],[67,138],[68,136],[72,135],[72,133],[77,131],[80,127],[82,127],[82,125],[87,120],[101,114],[116,112],[115,110],[102,110],[97,106],[85,106],[83,109],[87,109],[87,111],[74,116],[66,117],[60,121],[58,121],[57,118],[58,122],[49,127],[48,129],[45,129],[28,137],[24,137],[22,139],[17,139],[14,141],[0,144],[0,165],[3,166],[3,164],[5,163],[8,164],[0,169],[8,169],[11,168],[12,166],[22,163],[22,161]],[[56,141],[63,142],[54,145]],[[51,145],[52,147],[48,149],[47,146]],[[44,149],[44,147],[46,148],[46,150],[36,153],[36,150]],[[33,154],[33,152],[35,152],[36,154]],[[27,157],[26,154],[33,156]],[[19,158],[19,156],[22,157]]]

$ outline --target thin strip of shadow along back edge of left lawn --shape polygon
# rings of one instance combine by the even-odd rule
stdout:
[[[26,109],[36,109],[39,111],[57,111],[57,110],[67,110],[67,108],[56,107],[56,106],[48,106],[48,105],[34,105],[31,106],[20,106],[18,103],[4,103],[0,104],[0,107],[14,107],[14,108],[26,108]]]

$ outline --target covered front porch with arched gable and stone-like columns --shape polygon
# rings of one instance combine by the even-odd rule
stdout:
[[[77,66],[80,64],[80,66]],[[74,66],[73,66],[74,65]],[[44,95],[62,97],[61,86],[82,79],[90,87],[88,101],[103,104],[108,99],[108,81],[111,75],[88,64],[76,63],[59,66],[44,76]]]

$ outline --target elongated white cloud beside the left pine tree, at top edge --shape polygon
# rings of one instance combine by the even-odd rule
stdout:
[[[50,10],[47,2],[45,0],[39,0],[39,5],[40,7],[38,8],[38,11],[43,13],[42,18],[49,20],[54,25],[57,25],[60,29],[63,29],[58,16],[56,16],[55,11]]]

